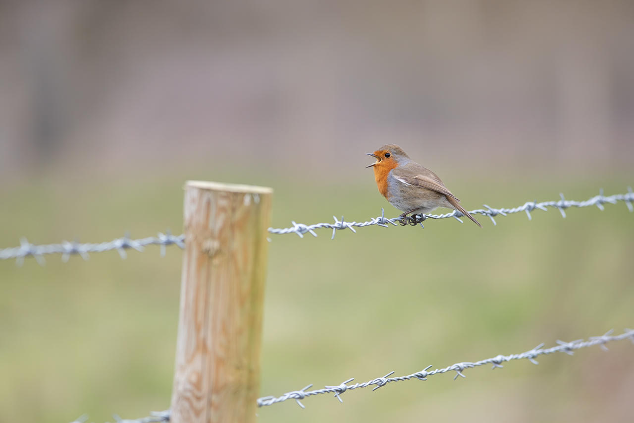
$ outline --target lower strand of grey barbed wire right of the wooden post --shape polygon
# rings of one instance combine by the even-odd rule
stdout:
[[[306,406],[304,406],[304,404],[302,404],[300,400],[303,400],[307,396],[313,396],[313,395],[319,395],[319,394],[334,394],[335,398],[337,398],[337,400],[339,400],[342,403],[344,401],[341,399],[341,394],[352,389],[375,385],[372,391],[376,391],[378,388],[385,386],[391,382],[400,382],[401,380],[410,380],[410,379],[427,380],[427,377],[429,376],[446,373],[446,372],[456,372],[456,375],[453,377],[453,379],[455,380],[458,376],[466,377],[463,374],[463,372],[468,368],[474,368],[476,366],[490,364],[490,365],[493,365],[492,367],[493,369],[498,367],[503,368],[501,363],[504,363],[505,361],[519,360],[519,359],[527,359],[531,361],[531,363],[536,365],[538,364],[538,362],[536,361],[535,358],[544,354],[553,354],[553,352],[565,352],[566,354],[573,355],[573,352],[577,349],[591,347],[595,345],[598,345],[602,349],[607,351],[607,347],[605,346],[607,342],[623,340],[623,339],[630,339],[632,343],[634,343],[634,329],[626,329],[624,333],[621,333],[621,335],[612,335],[612,332],[613,332],[612,330],[609,330],[604,335],[601,335],[599,337],[590,337],[590,340],[587,340],[587,341],[583,339],[578,339],[571,342],[564,342],[561,340],[557,340],[558,345],[554,347],[550,347],[548,349],[541,349],[541,347],[543,347],[544,344],[540,344],[534,347],[533,349],[529,349],[529,351],[526,351],[526,352],[521,352],[520,354],[511,354],[510,356],[503,356],[500,354],[493,358],[487,358],[480,361],[475,361],[474,363],[465,361],[465,362],[456,363],[454,365],[447,366],[444,368],[437,368],[431,371],[429,371],[429,369],[432,368],[432,366],[429,365],[425,367],[423,370],[420,370],[420,372],[411,373],[411,375],[406,375],[406,376],[389,377],[394,373],[394,372],[389,372],[385,376],[368,380],[368,382],[349,385],[349,383],[354,380],[354,378],[351,378],[351,379],[345,380],[339,385],[325,386],[321,389],[315,389],[314,391],[306,391],[306,389],[309,389],[313,386],[313,384],[309,384],[305,386],[304,388],[300,389],[299,391],[290,391],[278,397],[263,396],[262,398],[258,398],[257,406],[262,407],[267,405],[273,405],[276,403],[281,403],[282,401],[286,401],[286,400],[295,400],[299,406],[301,406],[302,408],[306,408]]]

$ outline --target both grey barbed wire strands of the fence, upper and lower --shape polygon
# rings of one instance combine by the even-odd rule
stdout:
[[[612,196],[604,196],[603,190],[597,196],[593,196],[590,199],[585,201],[574,201],[567,200],[564,198],[563,194],[560,194],[560,199],[557,201],[543,201],[541,203],[537,203],[536,201],[527,201],[524,205],[517,206],[515,208],[492,208],[488,205],[484,205],[484,208],[472,210],[469,213],[472,215],[483,215],[491,218],[491,221],[494,225],[496,225],[495,217],[498,216],[507,216],[513,213],[521,213],[524,211],[529,218],[532,219],[531,212],[534,210],[543,210],[547,211],[549,208],[555,208],[560,211],[562,217],[566,217],[566,209],[567,208],[582,208],[589,206],[597,206],[600,210],[604,210],[605,204],[617,204],[619,202],[624,202],[628,207],[628,210],[634,211],[634,206],[632,203],[634,202],[634,192],[631,188],[628,188],[628,192],[624,194],[614,194]],[[286,228],[269,228],[268,232],[270,234],[297,234],[299,237],[304,238],[304,234],[309,233],[313,236],[317,236],[315,232],[316,229],[332,229],[332,238],[335,238],[335,234],[337,231],[342,231],[344,229],[350,229],[352,232],[356,232],[355,228],[358,227],[367,227],[372,225],[378,225],[382,227],[389,227],[389,225],[418,225],[420,224],[422,227],[424,222],[427,219],[442,219],[442,218],[456,218],[456,220],[460,220],[462,217],[462,213],[459,211],[452,211],[451,213],[445,213],[442,215],[417,215],[415,217],[396,217],[396,218],[386,218],[384,210],[381,210],[381,215],[375,218],[370,218],[370,220],[366,222],[346,222],[342,217],[340,220],[337,217],[334,217],[333,223],[318,223],[318,224],[301,224],[297,222],[291,222],[292,226]],[[119,252],[121,258],[126,258],[126,251],[129,249],[136,250],[138,252],[145,251],[145,247],[148,245],[159,245],[161,255],[165,255],[166,247],[171,245],[179,246],[179,248],[184,248],[184,234],[181,235],[172,235],[171,232],[166,231],[165,233],[159,232],[157,236],[151,236],[147,238],[140,239],[131,239],[129,234],[122,238],[113,239],[112,241],[103,242],[103,243],[78,243],[78,242],[68,242],[63,241],[59,244],[49,244],[49,245],[34,245],[29,243],[26,239],[22,239],[20,241],[20,246],[4,248],[0,249],[0,260],[8,260],[15,259],[18,265],[23,263],[25,257],[34,257],[39,264],[44,264],[44,255],[50,254],[61,254],[61,259],[63,261],[68,261],[71,255],[79,255],[84,260],[89,257],[89,253],[100,253],[116,250]],[[363,388],[368,386],[374,386],[373,391],[376,389],[383,387],[391,382],[399,382],[403,380],[410,379],[418,379],[418,380],[427,380],[428,377],[447,373],[447,372],[456,372],[454,379],[458,376],[465,377],[463,372],[466,369],[474,368],[476,366],[482,366],[486,364],[492,365],[493,369],[502,368],[501,363],[505,363],[507,361],[518,360],[518,359],[528,359],[531,363],[538,364],[536,358],[545,354],[553,354],[555,352],[565,352],[566,354],[572,355],[574,351],[581,348],[591,347],[591,346],[600,346],[602,349],[607,350],[605,344],[608,342],[613,342],[617,340],[630,339],[634,343],[634,330],[626,329],[625,332],[620,335],[612,335],[612,330],[605,333],[604,335],[598,337],[590,337],[589,340],[574,340],[571,342],[557,341],[557,346],[550,347],[548,349],[543,349],[543,344],[540,344],[529,351],[521,352],[519,354],[511,354],[509,356],[498,355],[493,358],[482,359],[480,361],[469,362],[465,361],[462,363],[455,363],[451,366],[447,366],[444,368],[436,368],[435,370],[429,370],[432,366],[427,366],[423,370],[419,372],[411,373],[410,375],[400,376],[400,377],[391,377],[394,372],[389,372],[382,377],[377,377],[376,379],[368,380],[363,383],[355,383],[350,384],[354,380],[354,378],[347,379],[339,385],[333,386],[325,386],[321,389],[314,389],[313,391],[307,391],[313,385],[309,384],[306,387],[300,389],[299,391],[289,391],[281,396],[264,396],[262,398],[257,399],[257,406],[270,406],[276,403],[281,403],[287,400],[295,400],[299,406],[305,408],[305,406],[301,403],[300,400],[304,400],[304,398],[308,396],[315,396],[319,394],[333,394],[337,400],[343,402],[341,395],[346,391],[351,391],[357,388]],[[143,417],[141,419],[120,419],[119,416],[115,415],[114,418],[118,423],[153,423],[153,422],[168,422],[170,417],[169,410],[165,410],[162,412],[153,412],[149,417]],[[71,423],[84,423],[88,419],[87,415],[82,415],[78,419],[74,420]]]

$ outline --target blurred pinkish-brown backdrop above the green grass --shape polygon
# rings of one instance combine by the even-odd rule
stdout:
[[[338,177],[386,142],[492,173],[624,170],[633,39],[631,1],[3,1],[0,177],[228,154]]]

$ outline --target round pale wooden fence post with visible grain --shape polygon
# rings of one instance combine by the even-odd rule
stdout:
[[[253,422],[273,190],[188,181],[172,423]]]

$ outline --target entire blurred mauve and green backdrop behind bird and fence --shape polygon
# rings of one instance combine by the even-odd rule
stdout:
[[[185,180],[273,225],[385,207],[396,143],[467,208],[634,184],[631,1],[1,1],[0,248],[182,227]],[[634,215],[272,236],[262,396],[634,325]],[[181,252],[0,262],[0,421],[169,406]],[[264,422],[630,421],[632,346],[288,401]]]

